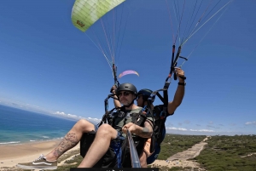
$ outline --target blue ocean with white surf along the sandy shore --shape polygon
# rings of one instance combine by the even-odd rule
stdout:
[[[0,145],[57,140],[76,121],[0,105]]]

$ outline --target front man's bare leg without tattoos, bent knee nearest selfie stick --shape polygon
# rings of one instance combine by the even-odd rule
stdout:
[[[80,163],[79,168],[91,168],[98,162],[108,151],[110,141],[117,138],[117,131],[108,124],[102,126],[96,132],[96,138],[90,145],[84,160]]]

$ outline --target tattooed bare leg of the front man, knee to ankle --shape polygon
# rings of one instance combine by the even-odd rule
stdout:
[[[92,130],[95,130],[95,126],[92,123],[84,119],[79,120],[65,135],[64,139],[61,140],[61,143],[53,151],[45,155],[45,157],[48,161],[57,160],[64,152],[77,145],[84,133],[89,133]]]

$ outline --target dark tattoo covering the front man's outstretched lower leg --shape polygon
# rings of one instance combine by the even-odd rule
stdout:
[[[77,140],[75,133],[67,133],[61,143],[55,148],[53,151],[55,157],[61,157],[61,155],[68,151],[69,149],[73,148],[75,145],[79,143]]]

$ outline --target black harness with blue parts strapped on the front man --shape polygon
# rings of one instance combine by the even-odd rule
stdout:
[[[100,127],[103,123],[108,123],[115,128],[119,134],[122,134],[122,128],[115,125],[116,119],[124,118],[125,125],[127,118],[131,117],[131,123],[135,123],[138,126],[143,127],[147,116],[142,112],[127,114],[125,106],[119,108],[113,108],[108,111],[108,99],[114,98],[113,94],[109,94],[105,100],[105,114],[102,117],[102,122],[98,124]],[[91,143],[95,139],[96,132],[91,131],[90,133],[83,134],[80,140],[80,155],[84,157],[90,148]],[[148,139],[139,137],[132,134],[134,144],[137,149],[138,156],[143,152],[143,146]],[[131,168],[131,155],[127,138],[125,140],[112,140],[106,154],[102,159],[96,163],[93,168]]]

